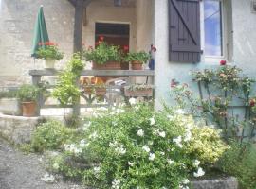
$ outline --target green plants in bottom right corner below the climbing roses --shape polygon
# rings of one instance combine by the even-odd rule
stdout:
[[[220,169],[239,180],[241,189],[256,188],[256,146],[230,143],[230,148],[219,160]]]

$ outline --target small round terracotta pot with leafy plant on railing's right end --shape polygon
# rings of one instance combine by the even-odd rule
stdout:
[[[150,60],[150,55],[145,51],[129,52],[125,60],[131,62],[133,70],[142,70],[142,64]]]

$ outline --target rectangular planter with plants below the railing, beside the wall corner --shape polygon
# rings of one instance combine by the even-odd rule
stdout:
[[[148,84],[134,84],[124,87],[126,96],[152,96],[153,86]]]

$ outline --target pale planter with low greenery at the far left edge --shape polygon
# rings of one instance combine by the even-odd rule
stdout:
[[[0,92],[0,112],[8,115],[20,115],[21,107],[17,99],[17,91],[6,90]]]

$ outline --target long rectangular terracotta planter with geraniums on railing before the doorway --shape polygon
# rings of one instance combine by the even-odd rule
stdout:
[[[85,60],[93,63],[94,70],[119,70],[121,68],[119,46],[101,41],[95,49],[89,47],[83,55]]]

